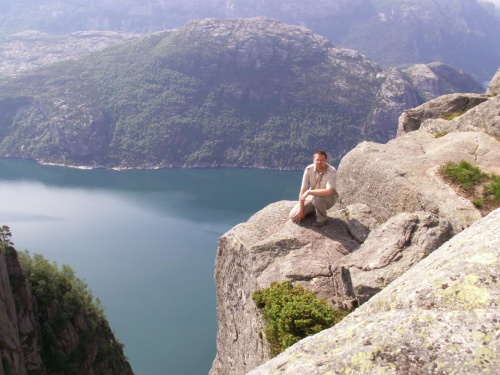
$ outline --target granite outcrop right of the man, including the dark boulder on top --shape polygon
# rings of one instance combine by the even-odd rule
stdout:
[[[470,95],[445,96],[407,111],[400,129],[421,129],[385,145],[363,142],[349,152],[338,169],[340,204],[367,204],[380,222],[402,212],[433,212],[449,221],[455,233],[477,221],[480,213],[473,204],[437,175],[440,166],[462,160],[500,173],[499,99],[472,97],[482,104],[452,120],[428,119],[418,125],[419,116],[456,109],[454,103],[469,103]]]

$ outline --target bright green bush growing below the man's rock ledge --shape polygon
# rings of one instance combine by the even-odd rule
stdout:
[[[345,313],[335,311],[325,300],[290,281],[272,283],[270,288],[252,294],[266,323],[267,341],[274,355],[306,336],[339,322]]]

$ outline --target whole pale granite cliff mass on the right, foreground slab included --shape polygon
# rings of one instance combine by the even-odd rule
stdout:
[[[295,202],[283,201],[220,238],[212,375],[495,373],[500,209],[482,217],[437,173],[462,160],[500,173],[493,81],[489,90],[464,95],[475,106],[452,120],[440,115],[462,108],[461,95],[409,110],[396,139],[349,152],[326,226],[292,223]],[[408,113],[421,119],[411,130]],[[265,363],[270,350],[251,295],[283,280],[337,309],[359,307]]]

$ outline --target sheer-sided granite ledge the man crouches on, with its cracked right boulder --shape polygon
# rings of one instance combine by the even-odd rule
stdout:
[[[283,201],[269,205],[219,241],[215,261],[219,331],[212,375],[245,374],[270,358],[261,314],[251,299],[255,290],[274,281],[291,280],[334,308],[352,309],[358,300],[367,299],[367,284],[359,276],[363,270],[372,274],[368,270],[377,268],[375,272],[389,283],[398,274],[398,267],[418,262],[451,234],[451,226],[430,213],[408,214],[379,227],[363,204],[331,209],[328,224],[322,228],[312,226],[314,217],[296,225],[288,218],[294,204]],[[363,248],[375,247],[380,235],[388,231],[393,235],[381,246],[392,255],[375,262],[377,255],[367,254]],[[391,241],[401,243],[397,247]],[[408,249],[403,249],[405,246]],[[361,256],[356,257],[358,252]],[[353,274],[354,268],[360,271],[351,279],[344,265],[349,265]],[[375,288],[371,292],[376,293]]]

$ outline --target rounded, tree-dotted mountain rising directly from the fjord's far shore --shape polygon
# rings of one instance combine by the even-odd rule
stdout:
[[[385,142],[426,99],[483,92],[440,63],[383,70],[303,27],[193,21],[0,85],[0,154],[107,168],[297,168]]]

